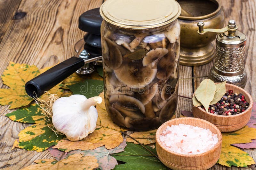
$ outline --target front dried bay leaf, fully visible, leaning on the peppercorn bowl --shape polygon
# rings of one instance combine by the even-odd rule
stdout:
[[[204,79],[200,83],[200,86],[196,89],[196,99],[203,104],[206,112],[208,111],[209,105],[213,100],[215,91],[215,83],[210,79]]]

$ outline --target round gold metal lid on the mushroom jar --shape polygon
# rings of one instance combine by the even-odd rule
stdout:
[[[167,25],[180,12],[175,0],[107,0],[100,7],[100,15],[108,23],[135,30]]]

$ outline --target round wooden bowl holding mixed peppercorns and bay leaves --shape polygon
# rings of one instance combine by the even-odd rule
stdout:
[[[216,83],[215,83],[216,84]],[[239,114],[236,115],[229,115],[229,116],[222,116],[222,115],[215,115],[210,112],[206,112],[204,109],[199,107],[193,106],[193,115],[194,117],[207,120],[217,126],[221,132],[230,132],[230,131],[236,131],[238,129],[241,129],[244,127],[251,118],[252,113],[252,96],[246,92],[244,89],[233,85],[226,83],[226,91],[233,90],[234,93],[241,93],[244,95],[245,100],[249,103],[248,108]],[[193,96],[195,93],[193,94]]]

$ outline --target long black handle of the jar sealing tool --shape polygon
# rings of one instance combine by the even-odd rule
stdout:
[[[28,96],[39,97],[82,66],[84,66],[83,59],[71,57],[28,81],[25,90]]]

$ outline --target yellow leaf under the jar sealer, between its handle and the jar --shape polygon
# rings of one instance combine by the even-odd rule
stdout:
[[[98,68],[97,68],[97,71],[98,71]],[[92,74],[86,74],[86,75],[79,75],[79,74],[73,73],[68,78],[66,78],[65,80],[62,81],[62,84],[64,84],[64,86],[62,86],[61,88],[69,89],[68,86],[82,82],[86,79],[103,81],[103,78],[100,77],[99,74],[95,71]]]

